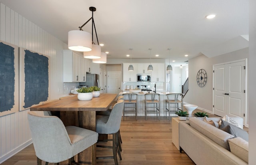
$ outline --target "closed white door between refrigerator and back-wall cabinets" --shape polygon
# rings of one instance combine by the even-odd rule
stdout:
[[[121,72],[108,72],[108,93],[120,92]]]

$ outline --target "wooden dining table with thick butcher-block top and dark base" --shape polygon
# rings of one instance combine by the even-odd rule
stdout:
[[[30,111],[60,111],[60,119],[65,126],[96,130],[96,111],[106,111],[116,99],[117,94],[100,93],[91,100],[78,100],[77,95],[30,107]],[[80,165],[96,164],[96,144],[78,154]]]

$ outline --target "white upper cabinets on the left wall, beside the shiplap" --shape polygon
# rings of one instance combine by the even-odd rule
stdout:
[[[81,58],[72,50],[63,50],[63,82],[84,82],[81,75]],[[84,66],[82,66],[84,67]]]

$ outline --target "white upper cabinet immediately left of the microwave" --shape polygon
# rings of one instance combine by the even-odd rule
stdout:
[[[133,71],[128,71],[130,63],[123,63],[123,82],[137,82],[137,64],[132,63]]]

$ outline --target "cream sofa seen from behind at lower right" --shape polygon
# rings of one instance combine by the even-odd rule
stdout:
[[[196,117],[179,123],[179,142],[196,165],[248,165],[247,141]]]

